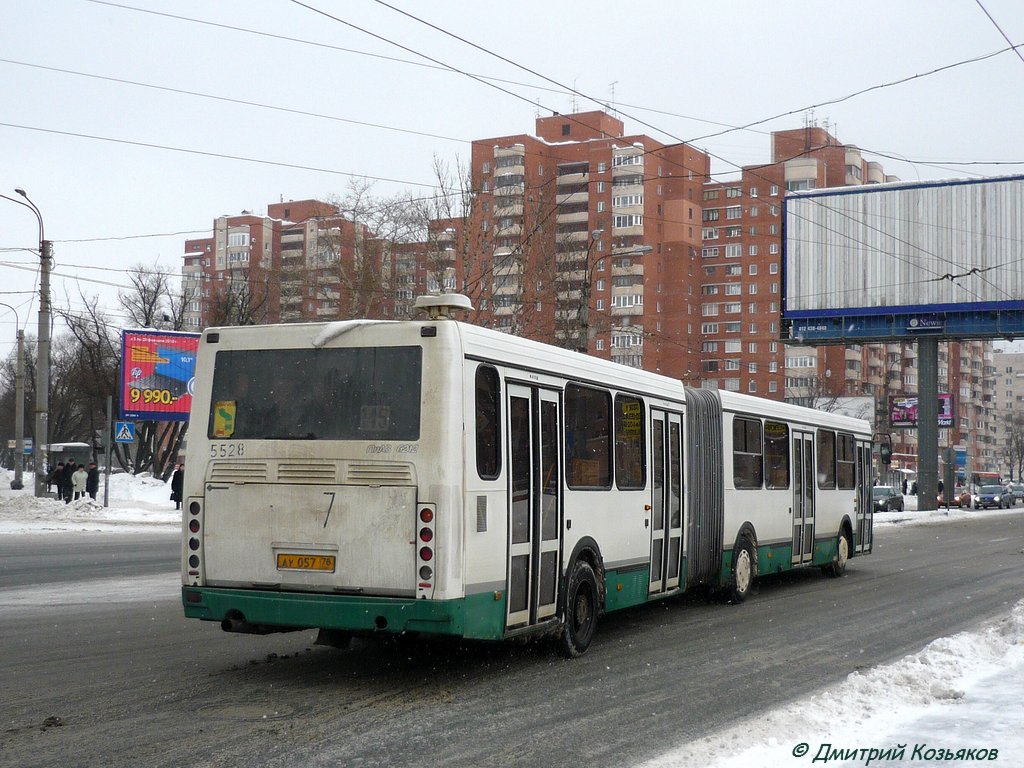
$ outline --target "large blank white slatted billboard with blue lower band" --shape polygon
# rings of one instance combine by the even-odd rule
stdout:
[[[1024,176],[786,195],[782,337],[1024,336]]]

